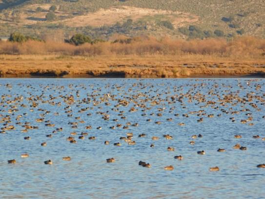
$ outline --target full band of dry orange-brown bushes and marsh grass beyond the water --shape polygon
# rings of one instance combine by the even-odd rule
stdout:
[[[0,75],[188,77],[264,75],[265,40],[253,37],[171,40],[138,38],[130,44],[74,46],[0,42]]]

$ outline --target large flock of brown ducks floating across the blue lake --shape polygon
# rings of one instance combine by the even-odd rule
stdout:
[[[224,119],[223,115],[231,115],[227,119],[227,123],[238,122],[242,125],[254,126],[257,118],[254,119],[253,112],[264,110],[265,92],[262,88],[265,85],[254,79],[237,81],[236,84],[238,89],[235,91],[232,91],[231,85],[224,83],[219,85],[215,80],[193,80],[180,86],[161,83],[159,86],[163,89],[158,89],[155,84],[144,83],[142,80],[137,80],[130,85],[126,83],[126,80],[122,84],[112,85],[109,83],[102,83],[102,85],[69,84],[67,86],[18,84],[17,86],[25,91],[22,95],[10,94],[12,93],[13,85],[2,84],[0,85],[0,136],[5,133],[21,133],[24,141],[27,142],[31,140],[32,132],[44,128],[45,131],[50,132],[46,134],[46,139],[43,137],[43,142],[40,143],[40,147],[45,147],[49,144],[49,138],[53,139],[54,135],[59,132],[66,136],[65,141],[69,142],[69,144],[82,144],[81,141],[77,140],[96,140],[98,136],[104,136],[103,133],[98,133],[97,136],[90,135],[89,131],[92,129],[108,132],[119,130],[124,132],[124,136],[117,137],[116,142],[105,140],[102,145],[112,144],[113,147],[119,147],[123,144],[128,144],[137,146],[137,139],[148,137],[150,143],[146,147],[156,148],[154,144],[156,140],[174,139],[174,132],[164,132],[161,136],[145,133],[141,128],[143,120],[153,123],[157,129],[163,129],[165,121],[175,122],[176,128],[185,126],[184,118],[191,115],[194,116],[194,122],[196,123],[204,123],[206,118],[209,118],[209,120],[210,118],[220,118],[221,120]],[[185,90],[185,88],[188,89]],[[244,93],[247,88],[251,88],[255,92]],[[53,94],[47,95],[47,91]],[[81,93],[86,93],[86,95]],[[48,106],[45,106],[46,109],[43,109],[43,105],[47,104]],[[191,104],[196,107],[196,111],[190,110]],[[48,110],[47,107],[51,109]],[[240,107],[240,110],[235,109],[235,107]],[[206,108],[213,110],[214,113],[206,112],[204,110]],[[74,114],[76,110],[78,110],[78,115]],[[182,110],[182,114],[180,114],[180,110]],[[147,111],[151,113],[147,114]],[[39,117],[31,117],[31,119],[25,120],[25,116],[29,118],[29,114],[32,112],[38,112]],[[134,121],[129,121],[127,116],[134,114],[134,112],[142,112],[141,117],[135,118]],[[170,113],[172,118],[164,118],[164,112]],[[60,126],[60,123],[53,123],[52,120],[47,119],[47,115],[51,114],[53,117],[60,117],[62,114],[67,116],[69,118],[67,128],[72,129],[72,131],[65,131],[65,126]],[[101,126],[95,126],[90,123],[89,118],[95,114],[102,115]],[[244,119],[238,121],[237,115],[243,115]],[[265,116],[258,119],[265,121]],[[106,124],[110,122],[112,125],[107,126]],[[134,140],[135,137],[138,138]],[[240,144],[242,137],[243,135],[240,133],[235,133],[231,137],[231,139],[238,140],[238,143],[231,146],[231,149],[247,150],[247,146],[241,146]],[[204,139],[204,133],[193,134],[189,138],[191,141],[187,144],[196,145],[195,140]],[[252,135],[250,139],[265,141],[265,137],[258,134]],[[165,150],[174,152],[175,147],[168,146],[167,148],[165,147]],[[227,153],[226,149],[219,147],[216,148],[216,152]],[[205,155],[206,153],[205,150],[197,151],[197,155]],[[27,158],[30,154],[24,153],[20,156],[21,158]],[[11,158],[7,161],[9,164],[20,162],[20,160],[17,161]],[[181,161],[184,158],[180,154],[173,155],[172,162],[174,159]],[[72,160],[70,156],[61,157],[61,159],[64,161]],[[116,159],[109,157],[105,161],[106,163],[113,163]],[[44,164],[52,165],[53,161],[48,159],[44,161]],[[150,168],[151,164],[140,160],[139,166]],[[265,168],[264,163],[255,166]],[[164,165],[163,168],[164,170],[174,170],[172,165]],[[222,168],[219,168],[218,165],[209,165],[209,171],[219,171],[220,169]]]

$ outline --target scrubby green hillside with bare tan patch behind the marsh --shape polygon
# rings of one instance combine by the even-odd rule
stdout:
[[[0,37],[19,30],[53,40],[75,33],[265,38],[264,26],[264,0],[0,0]]]

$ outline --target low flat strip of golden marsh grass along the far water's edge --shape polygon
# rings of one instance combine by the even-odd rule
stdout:
[[[265,58],[0,55],[0,78],[265,78]]]

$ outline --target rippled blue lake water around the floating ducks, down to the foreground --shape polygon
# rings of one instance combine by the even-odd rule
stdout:
[[[0,130],[5,132],[0,133],[1,199],[265,198],[265,169],[257,168],[265,163],[265,141],[261,139],[265,137],[264,79],[0,79],[0,85],[0,127],[16,128]],[[73,101],[66,100],[70,95]],[[121,101],[117,106],[119,99],[126,100],[123,105],[127,106]],[[32,102],[38,106],[30,107]],[[135,111],[129,111],[133,107]],[[200,112],[191,114],[200,110],[199,116]],[[233,111],[238,112],[231,114]],[[104,113],[109,120],[102,119]],[[214,116],[207,117],[209,114]],[[6,115],[10,119],[4,121]],[[18,115],[22,117],[16,120]],[[248,117],[253,119],[242,124]],[[44,118],[43,122],[36,122],[38,118]],[[199,118],[203,122],[197,122]],[[47,120],[55,126],[45,126]],[[39,129],[21,133],[25,122]],[[89,125],[90,130],[85,128]],[[57,128],[63,130],[52,133]],[[70,135],[72,132],[77,135]],[[88,133],[83,140],[79,139],[82,132]],[[133,133],[136,145],[120,140],[126,133]],[[138,137],[142,133],[146,136]],[[46,137],[48,134],[53,137]],[[173,139],[165,139],[164,134]],[[194,134],[203,137],[193,139]],[[242,138],[234,138],[236,134]],[[26,136],[31,140],[25,140]],[[68,136],[74,136],[77,143],[67,141]],[[90,136],[96,139],[88,139]],[[152,140],[153,136],[159,140]],[[109,145],[104,145],[106,140]],[[192,140],[194,145],[189,144]],[[47,146],[41,146],[42,142]],[[114,146],[115,142],[122,146]],[[237,143],[247,150],[233,149]],[[167,147],[175,151],[167,151]],[[219,148],[226,151],[217,152]],[[198,155],[201,150],[206,154]],[[20,157],[24,153],[29,157]],[[184,158],[178,160],[175,155]],[[71,161],[62,160],[65,156]],[[115,162],[107,163],[111,157]],[[16,164],[8,164],[11,159]],[[52,165],[43,163],[48,159]],[[151,168],[139,166],[140,160]],[[174,170],[164,170],[168,165]],[[220,171],[210,172],[215,166]]]

